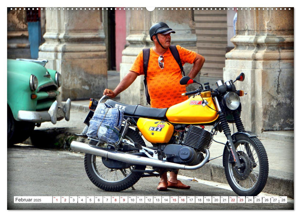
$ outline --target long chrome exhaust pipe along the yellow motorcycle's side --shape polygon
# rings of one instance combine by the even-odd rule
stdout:
[[[141,157],[137,155],[127,154],[116,150],[108,150],[94,145],[89,145],[82,142],[72,141],[70,148],[73,151],[79,151],[87,154],[93,154],[100,157],[105,157],[117,161],[129,163],[131,165],[155,166],[161,168],[181,169],[181,170],[196,170],[204,166],[210,157],[209,149],[205,149],[206,157],[199,164],[194,166],[187,166],[183,164],[171,163],[161,160],[156,160],[148,157]]]

